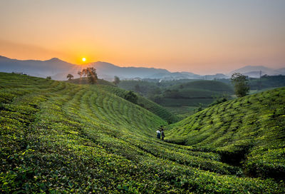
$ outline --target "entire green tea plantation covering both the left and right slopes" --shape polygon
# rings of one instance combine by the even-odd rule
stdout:
[[[0,73],[0,193],[285,192],[284,88],[172,124],[172,143],[166,124],[112,86]]]

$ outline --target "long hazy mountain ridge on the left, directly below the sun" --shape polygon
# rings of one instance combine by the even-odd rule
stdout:
[[[19,72],[26,73],[30,76],[38,76],[45,78],[51,76],[56,80],[66,80],[68,73],[78,77],[78,71],[82,68],[92,66],[96,68],[98,76],[107,80],[112,80],[114,76],[120,78],[148,78],[157,73],[170,73],[162,68],[136,68],[136,67],[120,67],[112,63],[94,62],[86,65],[76,65],[61,61],[58,58],[51,58],[47,61],[37,60],[17,60],[0,56],[0,71],[3,72]]]

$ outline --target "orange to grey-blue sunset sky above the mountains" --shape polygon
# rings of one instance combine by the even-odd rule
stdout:
[[[0,55],[228,73],[285,67],[284,0],[0,0]]]

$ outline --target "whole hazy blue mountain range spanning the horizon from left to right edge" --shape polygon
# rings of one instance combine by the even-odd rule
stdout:
[[[243,73],[250,77],[259,77],[259,73],[272,75],[285,75],[285,68],[272,69],[264,66],[244,66],[234,70],[227,75],[217,73],[214,75],[198,75],[190,72],[170,72],[163,68],[145,68],[145,67],[120,67],[115,66],[112,63],[106,63],[97,61],[88,63],[86,65],[76,65],[62,61],[59,58],[51,58],[47,61],[38,60],[17,60],[0,56],[0,71],[2,72],[15,72],[25,73],[30,76],[38,76],[51,78],[56,80],[66,80],[68,73],[71,73],[74,78],[79,77],[78,71],[81,71],[86,67],[94,67],[98,73],[99,78],[103,78],[108,81],[112,81],[114,76],[118,76],[120,79],[134,79],[134,78],[155,78],[160,80],[174,80],[174,79],[219,79],[229,78],[234,72]]]

